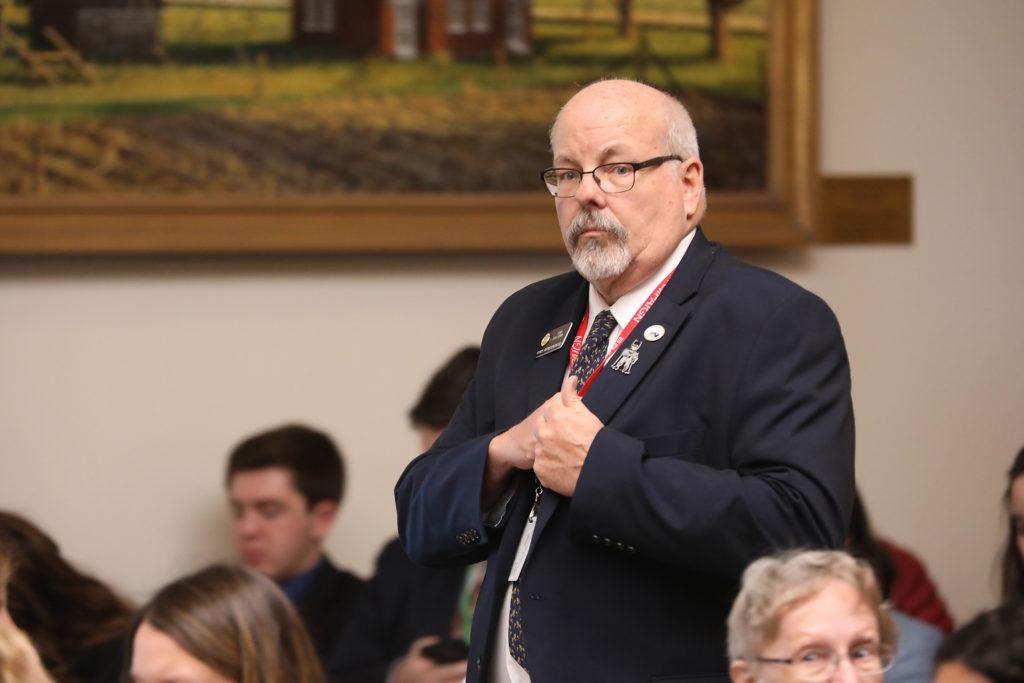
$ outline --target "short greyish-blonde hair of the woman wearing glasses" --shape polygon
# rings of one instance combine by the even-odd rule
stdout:
[[[778,637],[785,613],[817,595],[828,581],[857,589],[874,612],[881,644],[895,648],[896,627],[871,567],[842,551],[805,550],[762,557],[746,567],[729,612],[729,658],[759,656]]]

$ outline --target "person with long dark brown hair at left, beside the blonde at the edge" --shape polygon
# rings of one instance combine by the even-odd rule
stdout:
[[[10,512],[0,511],[0,544],[13,571],[7,610],[61,683],[105,683],[121,673],[131,606],[76,569],[57,544]]]

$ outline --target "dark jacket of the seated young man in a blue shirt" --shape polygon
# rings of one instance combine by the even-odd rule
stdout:
[[[296,601],[295,607],[306,625],[321,661],[327,663],[362,590],[361,579],[339,569],[325,555],[309,588]]]

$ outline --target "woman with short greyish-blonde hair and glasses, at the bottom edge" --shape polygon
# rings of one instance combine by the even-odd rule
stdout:
[[[874,573],[839,551],[751,564],[728,626],[733,683],[881,683],[896,652]]]

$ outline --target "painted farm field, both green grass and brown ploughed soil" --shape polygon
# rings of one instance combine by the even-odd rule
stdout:
[[[595,11],[610,2],[594,0]],[[763,186],[766,37],[738,31],[734,58],[712,62],[694,25],[702,7],[637,0],[638,12],[683,20],[659,16],[630,38],[593,15],[538,19],[532,53],[497,66],[343,57],[292,45],[285,9],[171,4],[160,53],[100,62],[94,83],[41,85],[0,57],[0,196],[536,188],[559,103],[607,76],[684,97],[706,160],[717,158],[710,186]],[[27,33],[25,5],[8,4],[5,19]]]

